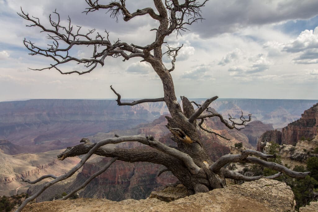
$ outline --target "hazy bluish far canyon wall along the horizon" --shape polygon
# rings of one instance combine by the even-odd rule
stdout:
[[[202,103],[205,99],[196,101]],[[316,102],[217,99],[211,107],[225,118],[228,114],[237,117],[243,110],[245,114],[253,114],[253,121],[273,124],[277,128],[295,121],[302,111]],[[16,148],[13,154],[45,152],[76,145],[81,138],[98,132],[130,129],[151,122],[165,113],[168,110],[163,102],[149,102],[133,107],[119,107],[114,100],[34,99],[0,102],[0,140],[6,139],[14,145],[23,146],[20,152]],[[252,131],[249,138],[254,145],[257,136],[256,130]]]

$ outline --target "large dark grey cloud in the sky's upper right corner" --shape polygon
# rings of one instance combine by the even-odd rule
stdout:
[[[318,1],[208,1],[202,8],[205,20],[189,29],[204,38],[222,33],[238,32],[249,26],[308,19],[318,14]]]

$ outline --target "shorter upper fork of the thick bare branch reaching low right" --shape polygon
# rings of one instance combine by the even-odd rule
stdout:
[[[210,169],[213,172],[218,172],[223,166],[225,166],[228,163],[233,162],[242,162],[244,159],[246,159],[249,155],[255,155],[261,158],[275,158],[276,155],[266,155],[262,152],[258,152],[256,150],[243,150],[241,154],[238,155],[223,155],[220,157],[217,161],[215,161],[211,166]]]

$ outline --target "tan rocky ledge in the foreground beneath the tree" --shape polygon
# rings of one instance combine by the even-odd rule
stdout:
[[[285,183],[260,179],[171,202],[156,198],[120,202],[80,198],[34,203],[27,205],[23,211],[294,211],[294,194]]]

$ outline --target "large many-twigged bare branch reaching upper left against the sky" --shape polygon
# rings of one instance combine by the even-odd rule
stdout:
[[[41,68],[41,69],[32,69],[32,70],[45,70],[55,68],[61,74],[86,74],[90,73],[93,69],[97,67],[98,64],[104,66],[104,60],[107,56],[111,57],[123,57],[124,61],[129,60],[133,57],[142,57],[144,53],[134,46],[128,45],[125,42],[121,42],[117,40],[113,44],[109,40],[109,34],[107,31],[107,37],[101,36],[98,32],[95,38],[92,38],[93,33],[95,33],[95,29],[89,30],[86,34],[80,33],[81,27],[78,27],[76,31],[74,26],[71,25],[71,19],[68,18],[69,24],[68,26],[63,26],[60,24],[60,16],[56,11],[53,12],[57,16],[57,20],[53,21],[51,15],[49,16],[49,21],[51,24],[51,29],[46,28],[44,25],[40,24],[40,21],[36,17],[30,17],[28,13],[25,13],[21,9],[21,13],[18,15],[30,22],[31,25],[27,25],[29,27],[37,26],[41,28],[42,32],[47,32],[47,39],[52,40],[52,44],[48,45],[46,49],[40,48],[36,46],[31,41],[27,41],[24,39],[24,46],[30,50],[30,55],[42,55],[45,57],[49,57],[54,60],[55,63],[50,64],[49,67]],[[66,48],[59,48],[61,46],[60,42],[66,44]],[[93,46],[93,56],[91,58],[77,58],[70,56],[70,50],[74,46],[85,45],[85,46]],[[100,48],[103,49],[98,51]],[[64,64],[67,62],[76,62],[77,64],[83,64],[83,66],[87,69],[86,71],[69,71],[63,72],[57,66],[60,64]]]

